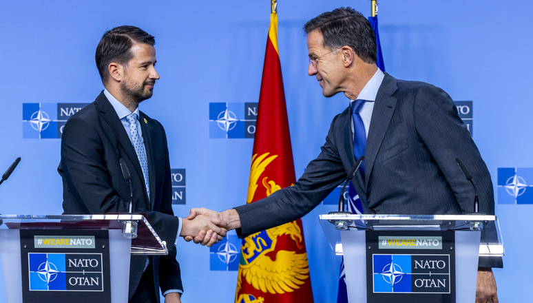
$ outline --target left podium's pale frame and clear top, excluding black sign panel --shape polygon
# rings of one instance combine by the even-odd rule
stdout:
[[[0,258],[7,302],[22,303],[20,229],[108,230],[112,302],[127,302],[130,255],[166,255],[168,249],[140,213],[102,215],[0,215]],[[136,234],[124,227],[137,224]]]

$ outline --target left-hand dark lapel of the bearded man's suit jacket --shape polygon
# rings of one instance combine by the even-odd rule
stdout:
[[[137,157],[137,153],[135,152],[135,149],[132,145],[132,141],[129,140],[129,136],[127,136],[126,130],[124,129],[124,125],[122,124],[121,119],[118,118],[118,115],[116,114],[113,105],[109,103],[103,92],[98,96],[98,98],[96,98],[96,105],[100,110],[102,118],[109,125],[109,127],[111,127],[111,130],[118,139],[118,143],[122,145],[129,160],[134,163],[135,169],[137,170],[137,174],[139,176],[143,176],[143,169],[140,167],[139,158]],[[130,171],[130,174],[132,174],[132,172],[133,171]],[[146,193],[146,190],[144,192]]]

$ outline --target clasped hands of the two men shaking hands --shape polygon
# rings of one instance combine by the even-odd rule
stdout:
[[[240,228],[239,214],[235,209],[222,212],[206,208],[191,209],[189,216],[182,218],[180,236],[189,242],[213,246],[222,240],[227,231]]]

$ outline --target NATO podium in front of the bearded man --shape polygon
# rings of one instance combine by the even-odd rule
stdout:
[[[9,303],[127,302],[130,255],[168,253],[142,214],[0,215],[2,221]]]

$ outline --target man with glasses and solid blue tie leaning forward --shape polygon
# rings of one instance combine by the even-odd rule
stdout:
[[[474,191],[457,166],[459,158],[477,180],[479,210],[494,214],[489,171],[446,92],[379,70],[374,31],[352,8],[324,12],[304,31],[309,76],[324,96],[342,92],[350,100],[333,118],[322,152],[292,187],[222,213],[192,209],[188,218],[220,218],[240,237],[291,222],[319,205],[360,156],[364,162],[351,181],[365,213],[472,212]],[[500,258],[480,258],[476,302],[498,302],[491,267],[501,266]]]

